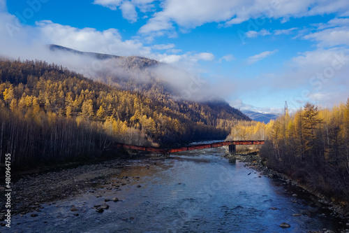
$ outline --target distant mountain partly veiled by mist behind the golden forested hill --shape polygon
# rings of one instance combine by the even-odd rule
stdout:
[[[178,71],[178,69],[154,59],[139,56],[124,57],[96,52],[81,52],[60,45],[49,45],[49,48],[52,52],[67,52],[67,56],[76,54],[82,57],[93,57],[103,60],[103,69],[96,71],[94,76],[98,76],[98,80],[118,89],[140,92],[150,99],[156,97],[175,102],[184,100],[198,102],[202,108],[207,109],[209,107],[210,115],[215,118],[251,120],[241,111],[229,106],[224,99],[215,97],[213,94],[206,94],[205,88],[201,90],[204,94],[195,93],[195,99],[182,99],[181,92],[188,88],[192,77],[187,76],[188,74],[184,71]],[[168,73],[172,72],[179,73],[169,77]],[[91,71],[88,73],[91,73]],[[178,77],[180,75],[185,77]],[[91,77],[91,79],[95,80],[94,77]],[[200,98],[198,98],[199,95]]]

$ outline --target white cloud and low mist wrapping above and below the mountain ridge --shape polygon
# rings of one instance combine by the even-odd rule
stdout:
[[[173,65],[172,67],[163,65],[161,69],[154,69],[153,71],[157,72],[159,78],[168,80],[174,88],[179,88],[177,90],[179,92],[178,97],[199,100],[207,94],[213,96],[214,91],[217,91],[210,82],[203,82],[197,78],[198,73],[200,73],[198,62],[214,59],[214,55],[210,52],[186,52],[178,55],[158,53],[154,50],[170,52],[174,50],[175,45],[169,43],[150,47],[143,45],[137,39],[124,40],[117,29],[107,29],[105,31],[98,31],[93,28],[79,29],[57,24],[50,20],[36,22],[35,26],[22,25],[14,15],[8,13],[0,13],[0,34],[0,45],[3,45],[0,50],[1,57],[43,59],[48,63],[61,64],[68,69],[83,73],[89,78],[103,76],[103,73],[128,77],[131,73],[131,75],[142,80],[141,73],[119,68],[117,60],[110,59],[101,62],[101,60],[94,57],[67,53],[63,50],[52,52],[48,49],[47,44],[62,45],[83,52],[101,52],[121,56],[142,55]],[[180,50],[174,52],[180,52]],[[207,84],[204,85],[204,83]],[[211,92],[209,92],[209,89],[211,89]],[[181,90],[184,90],[185,93],[181,93]],[[219,90],[221,92],[217,91],[216,93],[223,92],[221,87]]]

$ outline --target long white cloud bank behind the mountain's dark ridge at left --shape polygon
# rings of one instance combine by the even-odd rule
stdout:
[[[6,25],[12,25],[10,31]],[[79,71],[78,59],[71,61],[61,57],[52,56],[46,51],[47,44],[57,44],[83,52],[101,52],[112,55],[130,56],[140,55],[157,59],[161,62],[174,64],[176,67],[200,72],[200,61],[211,61],[214,55],[209,52],[186,52],[174,49],[174,44],[160,44],[146,46],[138,38],[124,40],[117,29],[98,31],[93,28],[76,28],[54,23],[50,20],[36,22],[36,26],[21,25],[14,15],[0,13],[0,50],[1,56],[21,59],[44,59]],[[155,50],[155,52],[153,52]],[[156,50],[166,50],[169,54]],[[177,53],[177,55],[174,55]],[[86,61],[85,61],[86,62]],[[73,65],[74,64],[74,65]],[[89,61],[91,64],[91,61]],[[82,65],[80,64],[80,67]]]

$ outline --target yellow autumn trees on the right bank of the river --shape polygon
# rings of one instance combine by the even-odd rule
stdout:
[[[231,138],[265,139],[260,156],[267,167],[315,192],[349,203],[349,99],[332,109],[307,103],[267,125],[241,122]]]

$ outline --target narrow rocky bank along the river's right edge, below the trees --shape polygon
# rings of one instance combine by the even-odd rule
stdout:
[[[281,174],[277,171],[274,171],[272,169],[269,169],[268,167],[265,167],[265,165],[262,163],[262,159],[258,156],[257,153],[251,153],[251,154],[241,154],[241,155],[225,155],[225,157],[228,158],[230,162],[235,162],[235,160],[240,160],[241,162],[244,162],[244,166],[246,167],[253,167],[256,171],[260,171],[262,175],[267,176],[269,178],[277,178],[280,181],[283,182],[284,185],[293,185],[297,186],[299,188],[302,188],[302,192],[306,196],[311,199],[311,202],[309,204],[308,209],[304,209],[302,213],[296,213],[295,216],[299,215],[306,215],[311,216],[313,213],[319,211],[319,209],[328,209],[331,211],[331,215],[335,218],[341,218],[343,226],[346,225],[348,229],[346,230],[340,230],[339,232],[349,232],[349,213],[346,211],[343,206],[339,206],[338,204],[335,204],[330,199],[318,194],[314,193],[311,190],[308,190],[304,185],[299,184],[297,181],[292,181],[288,176],[285,176],[284,174]],[[292,195],[293,197],[297,197],[297,194]],[[297,202],[297,199],[295,199],[292,202]],[[330,230],[323,229],[322,231],[317,232],[309,232],[309,233],[332,233]]]

